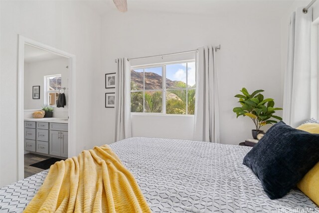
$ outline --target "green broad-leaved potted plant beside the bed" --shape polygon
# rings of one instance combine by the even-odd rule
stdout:
[[[262,126],[267,124],[275,124],[278,121],[283,120],[281,117],[274,115],[277,110],[282,110],[282,108],[274,107],[275,102],[272,98],[264,99],[264,96],[261,92],[264,90],[259,89],[249,94],[246,88],[240,90],[242,94],[235,95],[236,98],[239,98],[240,107],[235,107],[233,112],[236,113],[237,118],[239,116],[247,116],[252,119],[255,124],[256,129],[252,130],[252,135],[254,139],[257,138],[259,133],[264,131],[260,130]],[[276,120],[273,120],[276,119]]]

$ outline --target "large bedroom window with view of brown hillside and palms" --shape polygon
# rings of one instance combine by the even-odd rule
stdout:
[[[193,115],[195,62],[131,69],[131,112]]]

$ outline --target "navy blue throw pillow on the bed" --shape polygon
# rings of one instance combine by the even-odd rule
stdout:
[[[272,200],[284,197],[319,162],[319,134],[272,126],[245,156],[243,164],[261,181]]]

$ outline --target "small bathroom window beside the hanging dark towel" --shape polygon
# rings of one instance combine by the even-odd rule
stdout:
[[[59,89],[61,89],[61,74],[44,76],[44,104],[55,106]]]

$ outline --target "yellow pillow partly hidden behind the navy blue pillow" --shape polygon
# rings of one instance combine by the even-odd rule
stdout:
[[[297,129],[319,134],[319,124],[307,123],[297,127]],[[319,163],[304,176],[297,186],[319,206]]]

